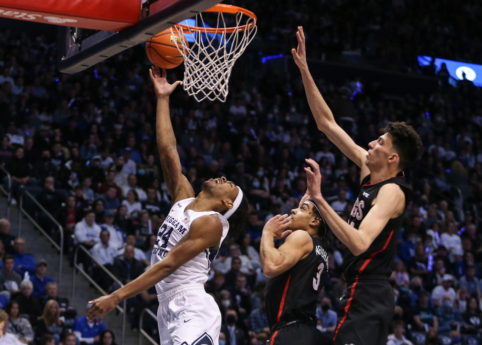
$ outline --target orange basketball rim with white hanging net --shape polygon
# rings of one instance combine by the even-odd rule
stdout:
[[[186,40],[174,40],[184,58],[182,86],[198,102],[204,99],[225,102],[232,66],[255,37],[257,17],[251,11],[224,4],[215,5],[206,12],[217,12],[216,27],[209,27],[201,13],[195,16],[195,25],[183,21],[171,27],[173,35],[177,32],[190,41],[187,46]],[[226,27],[226,22],[233,24]]]

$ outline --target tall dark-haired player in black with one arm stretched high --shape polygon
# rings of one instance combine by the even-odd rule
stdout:
[[[321,215],[335,236],[347,247],[343,258],[347,289],[340,301],[334,345],[386,344],[395,298],[388,282],[397,250],[402,217],[411,199],[403,169],[422,152],[422,142],[405,122],[389,123],[383,135],[368,144],[356,145],[335,122],[306,63],[303,29],[296,33],[298,48],[292,49],[300,69],[306,97],[318,129],[361,170],[361,190],[344,222],[320,192],[318,164],[307,159],[313,170],[305,168],[308,189]]]

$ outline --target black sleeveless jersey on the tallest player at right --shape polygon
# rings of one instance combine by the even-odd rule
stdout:
[[[372,203],[377,197],[382,186],[396,184],[405,194],[405,206],[410,203],[412,191],[405,182],[405,176],[401,172],[397,177],[370,184],[371,175],[362,181],[362,187],[351,210],[348,224],[358,229],[365,216],[372,209]],[[368,276],[390,277],[397,253],[397,240],[404,214],[390,219],[382,232],[373,241],[370,247],[362,254],[354,256],[349,250],[343,257],[345,279],[349,283],[356,277]]]

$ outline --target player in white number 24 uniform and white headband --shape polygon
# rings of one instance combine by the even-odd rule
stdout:
[[[166,71],[152,67],[157,95],[156,136],[162,170],[172,198],[169,215],[159,229],[151,268],[137,279],[89,303],[87,319],[98,322],[119,302],[156,285],[161,345],[217,345],[221,314],[204,291],[210,263],[223,239],[243,230],[248,200],[226,178],[209,179],[194,198],[177,153],[169,115],[169,95],[180,83],[168,84]]]

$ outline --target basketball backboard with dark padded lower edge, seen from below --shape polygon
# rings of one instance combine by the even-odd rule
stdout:
[[[63,73],[80,72],[149,40],[153,35],[219,2],[220,0],[143,1],[139,22],[117,32],[59,27],[57,67]]]

